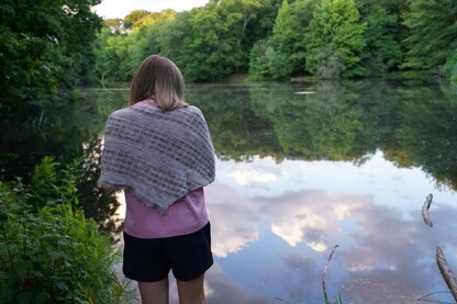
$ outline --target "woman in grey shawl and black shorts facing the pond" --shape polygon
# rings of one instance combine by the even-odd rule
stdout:
[[[131,86],[130,106],[108,120],[99,185],[125,191],[125,277],[142,303],[168,303],[172,271],[181,304],[204,303],[212,266],[203,187],[214,180],[204,117],[183,100],[178,67],[147,57]]]

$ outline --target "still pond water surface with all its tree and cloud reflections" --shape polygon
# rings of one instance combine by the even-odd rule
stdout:
[[[119,232],[122,202],[100,196],[93,181],[104,120],[127,91],[81,94],[47,115],[43,136],[2,138],[16,139],[1,150],[1,174],[23,173],[43,155],[83,155],[86,211]],[[331,301],[454,303],[435,250],[456,273],[456,88],[198,85],[187,95],[205,115],[216,153],[216,180],[205,188],[215,258],[209,303],[324,303],[336,245],[324,278]],[[428,193],[433,227],[421,214]]]

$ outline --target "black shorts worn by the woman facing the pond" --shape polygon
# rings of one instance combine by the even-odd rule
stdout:
[[[157,282],[170,269],[177,280],[189,281],[213,264],[211,225],[198,232],[165,238],[136,238],[124,232],[123,272],[138,282]]]

